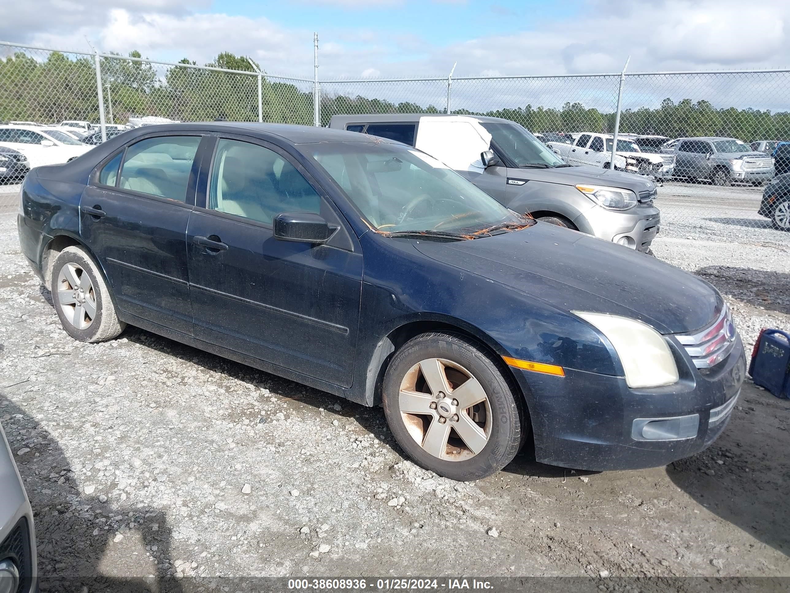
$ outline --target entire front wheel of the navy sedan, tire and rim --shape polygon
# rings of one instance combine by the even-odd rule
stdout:
[[[526,432],[521,402],[501,364],[457,334],[422,334],[395,353],[384,378],[384,413],[417,464],[459,481],[495,474]]]

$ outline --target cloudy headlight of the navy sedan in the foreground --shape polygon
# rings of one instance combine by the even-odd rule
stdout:
[[[636,319],[573,311],[597,327],[611,345],[626,372],[628,387],[660,387],[678,381],[678,367],[667,341],[653,327]]]

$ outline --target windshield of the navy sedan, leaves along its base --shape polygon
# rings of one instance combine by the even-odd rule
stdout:
[[[525,223],[445,164],[406,145],[349,142],[305,148],[379,231],[473,232]]]

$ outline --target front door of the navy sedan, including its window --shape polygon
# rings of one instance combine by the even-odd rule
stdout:
[[[350,387],[362,254],[273,237],[283,212],[344,222],[282,149],[219,138],[186,233],[195,337]],[[202,176],[201,176],[202,177]]]

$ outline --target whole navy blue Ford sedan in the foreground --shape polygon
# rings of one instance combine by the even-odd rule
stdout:
[[[457,480],[658,466],[724,429],[743,345],[707,282],[522,217],[411,146],[276,124],[130,130],[33,169],[19,237],[62,326],[127,324],[382,405]]]

